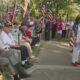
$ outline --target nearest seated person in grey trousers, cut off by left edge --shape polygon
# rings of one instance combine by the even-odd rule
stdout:
[[[2,31],[4,24],[0,22],[0,57],[5,57],[9,60],[9,64],[11,65],[11,70],[13,72],[14,80],[20,80],[18,74],[21,78],[28,77],[28,74],[25,72],[25,69],[19,64],[20,62],[15,56],[13,49],[10,49],[10,46],[4,44],[2,39]],[[17,72],[16,72],[17,70]]]

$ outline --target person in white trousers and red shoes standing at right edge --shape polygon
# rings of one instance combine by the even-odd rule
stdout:
[[[72,54],[72,65],[80,65],[79,53],[80,53],[80,15],[76,17],[75,23],[73,25],[72,36],[74,38],[74,47]]]

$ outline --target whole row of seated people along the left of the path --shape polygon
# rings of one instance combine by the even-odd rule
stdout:
[[[32,48],[37,42],[35,41],[36,37],[31,36],[30,31],[28,30],[29,25],[22,24],[22,27],[19,29],[18,24],[15,24],[14,27],[0,20],[0,56],[6,57],[9,60],[9,64],[14,70],[13,76],[14,80],[20,80],[20,78],[26,78],[29,76],[25,69],[30,68],[33,64],[30,62]],[[18,27],[18,40],[15,39],[13,28]],[[18,57],[15,55],[15,51],[19,50],[21,55],[21,60],[18,60]],[[19,75],[19,76],[18,76]]]

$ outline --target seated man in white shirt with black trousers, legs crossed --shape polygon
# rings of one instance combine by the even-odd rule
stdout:
[[[2,39],[3,42],[10,46],[11,49],[20,50],[21,52],[21,65],[27,69],[30,68],[32,65],[29,62],[30,56],[27,50],[27,47],[24,45],[19,45],[18,42],[16,42],[13,38],[13,35],[11,33],[11,27],[9,27],[7,24],[5,24],[3,31],[2,31]]]

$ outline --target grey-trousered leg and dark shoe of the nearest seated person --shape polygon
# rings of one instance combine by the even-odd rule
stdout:
[[[1,56],[8,58],[8,60],[11,64],[11,67],[13,67],[14,71],[16,68],[16,70],[18,71],[21,78],[28,76],[28,74],[25,72],[24,68],[21,67],[21,65],[19,64],[18,59],[15,57],[13,50],[3,51],[1,53]]]

